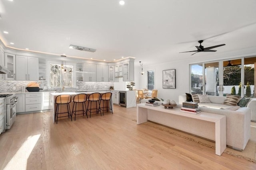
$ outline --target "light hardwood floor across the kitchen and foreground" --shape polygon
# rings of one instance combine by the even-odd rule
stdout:
[[[256,164],[146,125],[136,107],[52,122],[50,112],[17,115],[0,135],[0,169],[256,169]],[[30,153],[31,152],[31,153]]]

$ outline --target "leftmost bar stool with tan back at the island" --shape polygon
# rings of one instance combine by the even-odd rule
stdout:
[[[55,110],[54,121],[55,121],[55,118],[57,117],[56,124],[58,124],[59,114],[64,114],[64,113],[68,113],[67,116],[68,116],[68,118],[70,116],[71,121],[72,121],[72,115],[70,114],[70,106],[69,106],[70,102],[71,102],[71,95],[69,95],[69,94],[61,94],[55,98],[55,104],[57,104],[57,106],[56,106],[56,110]],[[60,105],[66,105],[68,111],[59,113]],[[67,117],[67,116],[60,116],[60,117]]]

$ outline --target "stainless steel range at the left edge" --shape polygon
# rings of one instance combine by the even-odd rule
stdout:
[[[16,119],[16,104],[18,97],[14,94],[0,94],[4,99],[4,129],[10,129]],[[5,130],[4,130],[5,131]]]

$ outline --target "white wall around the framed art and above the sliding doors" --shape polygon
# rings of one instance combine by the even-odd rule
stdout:
[[[249,51],[250,52],[250,51]],[[256,52],[249,53],[244,49],[244,51],[238,51],[236,56],[231,56],[230,53],[208,53],[207,57],[202,56],[202,54],[197,53],[196,55],[191,56],[188,54],[186,59],[183,61],[172,61],[166,62],[162,64],[150,64],[150,65],[143,65],[143,69],[155,69],[155,89],[158,90],[158,97],[162,99],[171,99],[178,102],[178,96],[180,94],[185,94],[189,92],[189,64],[194,63],[202,63],[202,62],[209,62],[209,61],[219,61],[223,59],[235,59],[239,57],[246,57],[246,56],[254,56]],[[175,57],[177,60],[179,59],[179,54]],[[158,60],[161,57],[158,57]],[[142,61],[143,62],[143,61]],[[140,71],[140,66],[135,66],[136,71],[134,72],[136,82],[136,89],[146,88],[147,85],[147,76],[144,74],[143,76],[136,74]],[[164,89],[162,87],[162,71],[169,70],[169,69],[176,69],[176,89]],[[253,90],[252,90],[253,91]]]

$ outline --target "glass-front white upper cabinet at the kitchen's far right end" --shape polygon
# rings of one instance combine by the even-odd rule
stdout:
[[[134,81],[134,62],[128,61],[123,63],[123,81]]]

